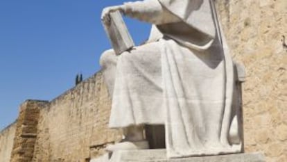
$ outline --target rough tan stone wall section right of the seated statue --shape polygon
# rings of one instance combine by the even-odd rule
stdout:
[[[264,152],[268,162],[287,161],[287,1],[216,3],[233,57],[247,71],[245,151]]]

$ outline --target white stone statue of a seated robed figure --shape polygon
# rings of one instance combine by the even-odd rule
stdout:
[[[214,0],[144,0],[107,7],[153,24],[150,39],[120,55],[101,56],[112,97],[109,127],[123,129],[108,150],[148,149],[144,124],[164,124],[167,156],[238,153],[234,63]]]

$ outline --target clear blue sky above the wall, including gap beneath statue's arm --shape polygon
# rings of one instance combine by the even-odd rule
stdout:
[[[127,0],[0,0],[0,130],[26,99],[51,100],[97,72],[110,48],[101,10]],[[125,19],[136,44],[150,25]]]

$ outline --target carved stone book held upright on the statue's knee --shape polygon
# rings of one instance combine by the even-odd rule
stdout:
[[[134,47],[134,41],[119,11],[110,13],[110,22],[103,22],[103,26],[117,55]]]

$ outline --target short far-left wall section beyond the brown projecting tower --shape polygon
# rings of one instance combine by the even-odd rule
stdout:
[[[0,132],[0,162],[9,162],[12,152],[16,122]]]

